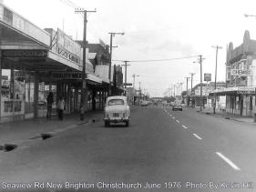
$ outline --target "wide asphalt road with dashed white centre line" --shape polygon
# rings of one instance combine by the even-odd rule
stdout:
[[[254,125],[136,107],[129,127],[74,126],[0,153],[0,191],[256,191],[255,151]]]

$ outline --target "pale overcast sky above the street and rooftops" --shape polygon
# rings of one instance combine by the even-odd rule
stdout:
[[[225,81],[226,47],[242,44],[245,30],[256,39],[254,0],[4,0],[4,4],[41,28],[64,29],[73,39],[82,39],[83,17],[75,14],[75,7],[88,11],[87,41],[109,44],[109,32],[124,32],[113,37],[112,64],[123,65],[119,60],[155,62],[130,62],[128,83],[150,96],[164,96],[168,88],[183,83],[195,73],[193,85],[200,83],[202,74],[210,73],[214,81],[216,49],[218,54],[217,81]],[[183,58],[189,57],[190,58]],[[175,59],[173,58],[183,58]],[[116,61],[118,60],[118,61]],[[196,62],[196,63],[194,63]],[[189,81],[190,85],[190,81]]]

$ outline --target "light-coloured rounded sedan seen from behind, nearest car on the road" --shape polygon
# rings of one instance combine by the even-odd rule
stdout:
[[[108,96],[104,111],[105,126],[110,126],[110,123],[125,123],[129,126],[130,109],[127,96]]]

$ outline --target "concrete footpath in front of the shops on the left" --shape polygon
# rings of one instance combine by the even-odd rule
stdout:
[[[84,121],[80,120],[79,114],[71,114],[64,115],[63,121],[58,120],[57,116],[52,116],[51,120],[41,117],[0,124],[0,149],[5,149],[6,144],[19,145],[27,139],[40,137],[42,134],[54,134],[102,119],[103,110],[99,110],[87,112]]]

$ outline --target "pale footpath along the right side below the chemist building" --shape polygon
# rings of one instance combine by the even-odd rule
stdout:
[[[200,112],[200,107],[196,107],[194,109],[197,110],[198,112]],[[234,121],[255,124],[253,116],[239,116],[239,115],[234,115],[234,114],[228,114],[225,111],[219,111],[219,110],[216,110],[216,113],[213,114],[212,108],[202,108],[202,111],[200,113],[204,113],[204,114],[211,115],[211,116],[220,116],[220,117],[234,120]]]

